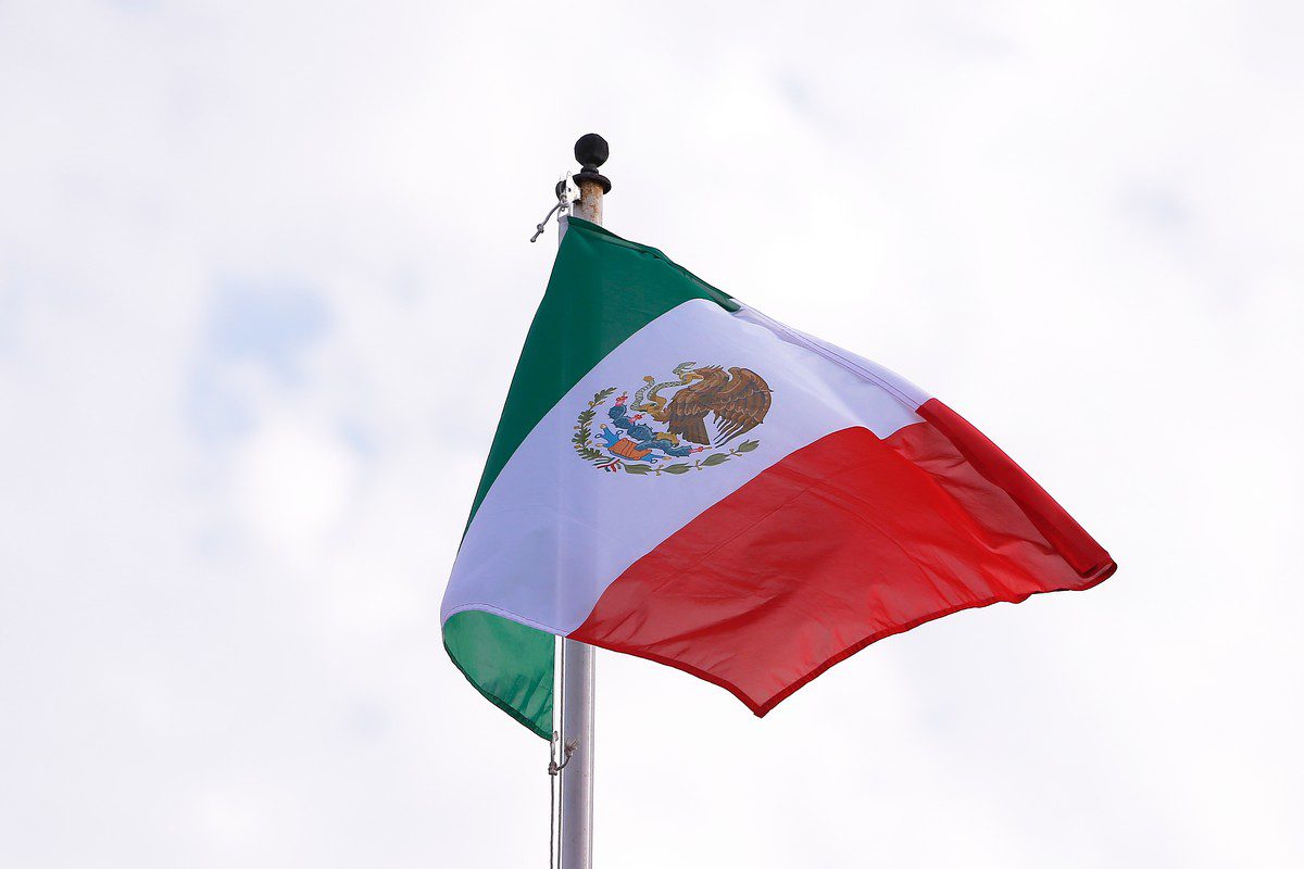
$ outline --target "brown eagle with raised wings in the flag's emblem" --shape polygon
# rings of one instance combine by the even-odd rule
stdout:
[[[715,414],[715,446],[721,447],[759,426],[769,412],[769,384],[750,369],[733,367],[725,374],[719,365],[711,365],[690,371],[685,379],[692,383],[670,399],[665,422],[670,434],[692,443],[711,444],[708,413]]]

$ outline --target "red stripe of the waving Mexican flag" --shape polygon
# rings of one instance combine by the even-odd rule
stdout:
[[[885,439],[786,456],[635,562],[570,636],[678,667],[764,715],[865,646],[1115,568],[1022,469],[936,400]]]

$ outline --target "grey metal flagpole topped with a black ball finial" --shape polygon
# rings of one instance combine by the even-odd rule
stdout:
[[[599,173],[608,146],[597,133],[575,142],[580,171],[574,177],[579,201],[571,214],[602,224],[602,195],[612,182]],[[558,245],[565,224],[557,233]],[[562,747],[570,758],[561,773],[561,869],[593,866],[593,646],[562,640]]]

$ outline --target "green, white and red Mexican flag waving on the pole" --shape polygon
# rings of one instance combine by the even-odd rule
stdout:
[[[441,615],[546,739],[554,636],[764,715],[876,640],[1114,569],[938,399],[571,218]]]

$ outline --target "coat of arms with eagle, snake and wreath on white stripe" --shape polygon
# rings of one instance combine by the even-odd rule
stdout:
[[[660,477],[722,465],[760,446],[737,440],[769,413],[771,388],[759,374],[696,362],[681,362],[672,374],[660,383],[645,375],[632,397],[621,392],[610,406],[617,387],[597,392],[571,438],[579,457],[608,472]]]

